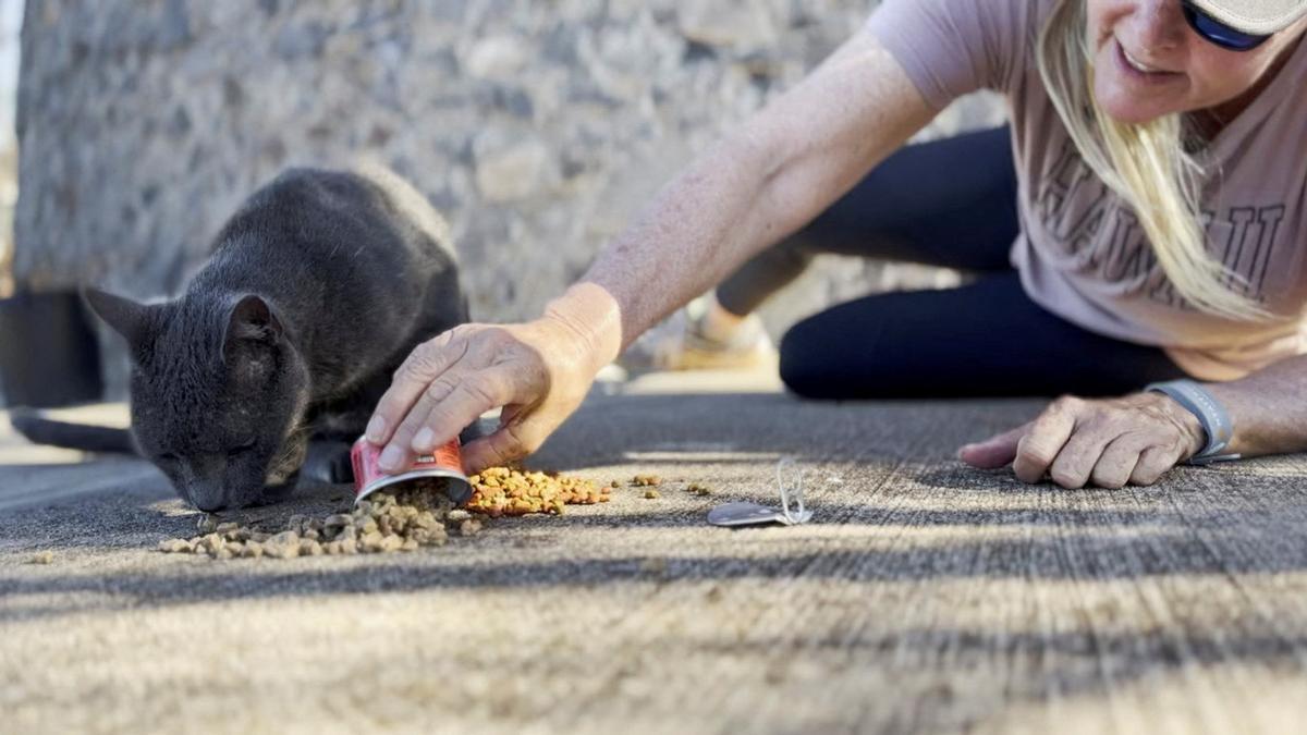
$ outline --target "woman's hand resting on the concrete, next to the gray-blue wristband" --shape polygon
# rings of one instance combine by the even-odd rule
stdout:
[[[1064,488],[1085,484],[1151,485],[1202,449],[1199,419],[1170,396],[1144,392],[1087,400],[1063,396],[1034,421],[983,442],[958,458],[980,468],[1012,463],[1025,483],[1051,476]]]

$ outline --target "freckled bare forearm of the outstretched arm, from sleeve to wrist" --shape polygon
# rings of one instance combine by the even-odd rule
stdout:
[[[593,341],[620,352],[816,217],[932,116],[893,56],[859,34],[664,187],[550,309],[616,330]]]

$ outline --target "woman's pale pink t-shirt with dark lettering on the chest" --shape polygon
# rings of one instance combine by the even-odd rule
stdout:
[[[1132,212],[1081,161],[1035,64],[1053,5],[886,0],[868,21],[933,107],[978,89],[1006,95],[1021,180],[1012,264],[1026,293],[1086,330],[1162,347],[1202,379],[1239,378],[1307,352],[1307,43],[1204,153],[1214,182],[1202,197],[1208,251],[1277,315],[1235,322],[1178,297]]]

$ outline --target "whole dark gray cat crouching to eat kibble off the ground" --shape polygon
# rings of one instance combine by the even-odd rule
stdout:
[[[395,370],[468,320],[444,221],[379,167],[282,173],[179,298],[85,296],[129,348],[135,450],[210,511],[284,497],[310,438],[327,447],[318,475],[349,481],[349,442]],[[41,421],[16,426],[77,443]]]

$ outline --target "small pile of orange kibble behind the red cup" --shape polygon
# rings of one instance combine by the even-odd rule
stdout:
[[[562,515],[566,505],[608,502],[612,493],[612,488],[596,488],[591,480],[508,467],[491,467],[468,480],[472,500],[467,509],[490,518],[528,513]]]

